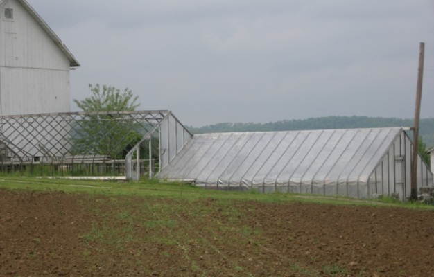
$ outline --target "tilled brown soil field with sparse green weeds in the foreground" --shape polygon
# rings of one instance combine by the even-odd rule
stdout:
[[[434,212],[0,190],[0,276],[434,276]]]

